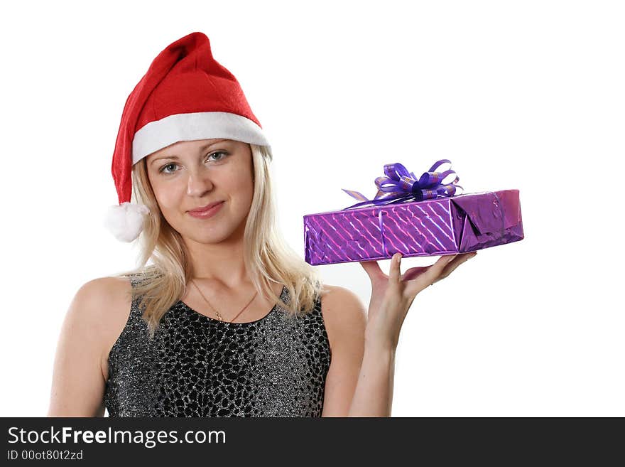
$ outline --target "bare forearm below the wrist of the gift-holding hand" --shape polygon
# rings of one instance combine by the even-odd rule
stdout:
[[[348,417],[391,417],[395,349],[365,343],[360,374]]]

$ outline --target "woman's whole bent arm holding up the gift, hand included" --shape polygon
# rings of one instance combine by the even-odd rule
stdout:
[[[377,262],[361,262],[371,279],[368,312],[356,294],[331,288],[322,301],[326,327],[334,336],[324,417],[391,417],[395,353],[408,309],[420,291],[474,255],[448,255],[404,274],[394,256],[388,276]]]

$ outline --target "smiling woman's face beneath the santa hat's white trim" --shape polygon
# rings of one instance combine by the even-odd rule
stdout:
[[[241,235],[254,196],[247,143],[231,139],[179,141],[146,157],[148,178],[163,216],[183,237],[200,243]],[[210,218],[189,210],[224,201]]]

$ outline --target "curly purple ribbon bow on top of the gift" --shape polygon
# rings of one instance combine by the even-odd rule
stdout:
[[[455,171],[447,170],[445,172],[436,172],[438,166],[443,163],[450,163],[449,159],[441,159],[437,161],[430,170],[423,173],[421,178],[417,180],[413,172],[408,172],[408,169],[401,163],[387,163],[384,166],[384,173],[386,177],[376,178],[376,186],[378,187],[378,193],[376,193],[374,199],[369,200],[362,193],[354,190],[342,190],[348,195],[362,200],[362,203],[356,203],[349,208],[342,210],[357,208],[362,205],[386,205],[394,203],[403,203],[414,201],[428,200],[431,198],[445,198],[455,195],[456,188],[462,188],[460,185],[456,185],[456,182],[460,180],[456,175],[455,180],[445,183],[443,180]],[[464,188],[462,188],[464,191]]]

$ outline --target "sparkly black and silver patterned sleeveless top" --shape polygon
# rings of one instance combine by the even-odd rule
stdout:
[[[286,286],[281,299],[289,303]],[[320,299],[304,316],[276,303],[249,323],[178,301],[152,340],[138,301],[109,353],[109,417],[321,416],[331,353]]]

